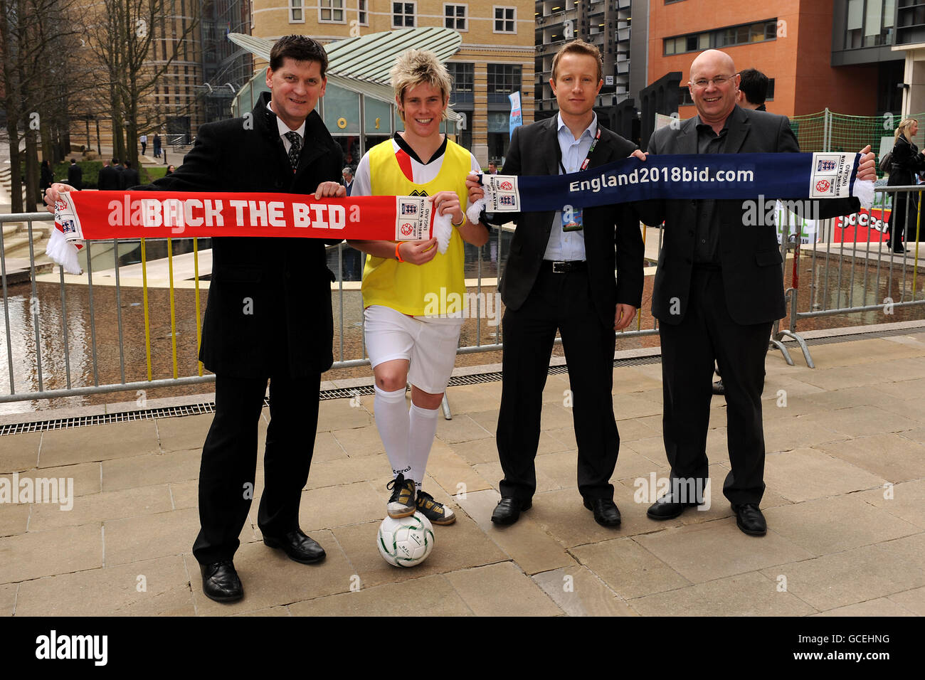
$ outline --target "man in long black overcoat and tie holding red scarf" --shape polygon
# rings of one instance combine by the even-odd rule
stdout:
[[[266,71],[270,93],[253,112],[203,125],[176,172],[137,189],[344,195],[340,147],[314,111],[326,68],[321,44],[301,35],[280,38]],[[324,242],[314,239],[216,238],[212,257],[200,359],[216,374],[216,414],[203,446],[201,529],[192,552],[204,594],[234,601],[243,588],[232,558],[253,498],[267,380],[271,420],[257,525],[267,546],[296,562],[325,557],[299,528],[299,501],[312,461],[321,373],[333,361],[334,275]]]

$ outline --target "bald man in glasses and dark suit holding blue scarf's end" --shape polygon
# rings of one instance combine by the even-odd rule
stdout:
[[[798,152],[786,117],[735,105],[739,77],[733,59],[708,50],[694,59],[687,83],[697,116],[680,128],[657,130],[649,154]],[[875,179],[870,146],[858,179]],[[782,197],[784,198],[784,197]],[[752,224],[754,201],[658,200],[636,204],[642,221],[664,236],[652,293],[659,319],[664,399],[662,434],[672,488],[648,516],[677,517],[703,502],[708,479],[710,377],[716,361],[726,397],[732,471],[722,492],[746,534],[767,531],[761,391],[774,319],[783,317],[783,266],[773,219]],[[816,217],[857,212],[857,199],[820,201]],[[760,208],[759,208],[760,211]]]

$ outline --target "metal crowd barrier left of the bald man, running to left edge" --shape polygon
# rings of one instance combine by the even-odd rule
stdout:
[[[215,380],[215,376],[203,371],[203,365],[196,360],[198,356],[198,348],[201,340],[201,290],[200,290],[200,278],[199,278],[199,246],[198,241],[192,240],[192,249],[193,249],[193,262],[195,267],[195,275],[193,277],[194,281],[194,295],[195,295],[195,331],[196,331],[196,344],[194,351],[195,355],[183,355],[178,352],[178,324],[184,321],[189,321],[188,318],[184,319],[182,315],[178,317],[177,310],[177,300],[175,295],[175,281],[174,281],[174,258],[175,255],[172,252],[171,245],[173,243],[172,239],[141,239],[141,253],[142,253],[142,300],[139,303],[131,304],[140,304],[143,305],[143,322],[141,324],[142,328],[136,328],[134,326],[126,326],[123,319],[123,306],[125,303],[124,298],[126,297],[127,291],[137,291],[135,286],[126,286],[122,280],[120,280],[120,271],[124,269],[124,265],[120,266],[119,264],[119,244],[125,243],[126,241],[87,241],[85,243],[85,253],[87,254],[88,261],[93,256],[93,249],[96,248],[97,251],[100,248],[101,243],[108,244],[113,249],[113,260],[112,267],[115,273],[115,318],[112,318],[112,309],[109,309],[109,305],[105,305],[105,309],[101,309],[99,303],[94,302],[94,292],[96,297],[99,298],[101,292],[101,285],[94,284],[93,282],[93,269],[90,266],[86,267],[85,278],[82,281],[75,280],[73,278],[66,278],[66,275],[63,269],[60,266],[54,266],[53,270],[57,274],[56,284],[49,283],[47,281],[38,282],[36,276],[41,274],[39,271],[40,267],[36,266],[36,253],[33,248],[33,228],[36,223],[48,223],[52,222],[53,217],[48,213],[27,213],[27,214],[14,214],[14,215],[0,215],[0,227],[6,226],[9,223],[25,223],[26,227],[26,236],[29,240],[29,264],[24,270],[21,270],[19,274],[28,279],[30,282],[30,304],[29,309],[19,309],[19,315],[16,318],[16,321],[19,324],[19,329],[14,330],[11,327],[11,295],[9,291],[9,284],[7,281],[7,258],[6,255],[2,258],[2,263],[0,263],[0,274],[3,278],[3,308],[4,308],[4,318],[3,318],[3,328],[4,328],[4,349],[6,350],[6,371],[7,379],[3,380],[3,385],[0,385],[0,403],[4,402],[25,402],[33,400],[43,400],[43,399],[55,399],[59,397],[71,397],[78,395],[88,395],[88,394],[101,394],[107,392],[117,392],[117,391],[129,391],[129,390],[147,390],[152,388],[165,388],[165,387],[176,387],[176,386],[187,386],[194,385],[198,383],[211,382]],[[507,256],[507,253],[504,252],[504,240],[502,239],[503,229],[494,229],[492,233],[492,239],[496,241],[495,247],[492,248],[494,253],[492,253],[491,259],[495,262],[496,275],[499,275],[501,272],[501,266]],[[644,230],[645,235],[645,230]],[[659,239],[661,239],[661,231],[659,230]],[[129,240],[135,241],[135,240]],[[189,240],[184,240],[189,241]],[[158,371],[154,368],[153,356],[154,358],[161,358],[161,353],[153,350],[153,318],[154,310],[152,310],[152,303],[150,300],[151,295],[153,294],[149,290],[148,278],[150,278],[149,267],[151,263],[148,260],[146,250],[150,249],[151,245],[154,243],[160,243],[163,245],[166,242],[166,261],[169,272],[169,297],[168,297],[168,311],[170,316],[169,324],[169,337],[170,337],[170,366],[172,370],[167,368],[166,370]],[[343,280],[344,272],[344,248],[349,248],[346,243],[341,243],[339,246],[331,246],[331,248],[337,249],[337,283],[333,285],[333,306],[335,313],[335,339],[334,339],[334,353],[336,361],[332,368],[344,368],[351,366],[361,366],[369,365],[369,359],[366,357],[365,352],[365,343],[363,340],[363,331],[362,326],[360,328],[360,351],[353,352],[353,355],[350,355],[351,352],[345,350],[345,288]],[[0,230],[0,253],[4,249],[4,235],[2,230]],[[496,276],[494,284],[491,285],[491,281],[485,281],[486,277],[483,276],[483,269],[485,268],[484,255],[483,252],[486,248],[480,248],[478,250],[478,258],[475,262],[475,272],[476,272],[476,284],[474,288],[468,289],[470,292],[475,292],[475,344],[469,344],[462,347],[459,347],[457,352],[460,354],[468,354],[474,352],[498,352],[502,347],[502,338],[501,338],[501,328],[500,324],[491,328],[488,325],[487,320],[484,315],[484,310],[481,308],[483,301],[483,294],[494,295],[497,291],[497,280]],[[10,275],[13,272],[9,272]],[[99,277],[97,277],[99,279]],[[68,282],[69,281],[69,282]],[[74,296],[77,291],[75,291],[72,286],[74,283],[83,285],[81,291],[86,291],[87,304],[85,310],[80,310],[81,312],[86,313],[86,318],[81,318],[80,323],[75,326],[68,323],[69,312],[68,309],[73,307],[75,304]],[[52,305],[47,302],[48,296],[45,295],[43,299],[45,302],[39,304],[39,293],[40,287],[48,287],[51,285],[57,286],[57,294],[55,295],[56,303]],[[105,286],[105,289],[110,289],[111,286]],[[157,289],[160,290],[160,289]],[[47,289],[44,289],[47,291]],[[356,295],[359,298],[359,295]],[[82,300],[80,301],[82,302]],[[71,309],[71,311],[73,311]],[[354,313],[359,311],[359,318],[361,319],[362,324],[362,309],[353,310]],[[106,318],[103,321],[99,320],[101,313],[104,313]],[[496,319],[500,321],[501,310],[499,305],[496,305],[495,308]],[[470,313],[472,315],[472,313]],[[354,314],[354,317],[356,314]],[[655,328],[654,324],[652,328],[641,328],[641,315],[637,315],[635,330],[626,330],[623,331],[620,335],[622,337],[627,336],[642,336],[642,335],[651,335],[657,333],[658,330]],[[31,331],[28,335],[31,335],[30,339],[26,339],[26,333],[23,331],[23,328],[26,326],[31,326]],[[56,326],[57,328],[51,328]],[[48,336],[53,333],[60,333],[60,340],[54,343],[54,352],[51,353],[51,356],[48,356],[46,353],[43,353],[43,347],[49,346]],[[144,352],[143,352],[143,362],[144,362],[144,372],[142,379],[127,379],[127,369],[129,372],[134,372],[136,374],[141,373],[142,357],[137,356],[137,353],[133,356],[127,356],[126,352],[126,342],[125,336],[127,333],[133,332],[136,334],[142,333],[144,335]],[[98,349],[100,345],[100,336],[101,334],[106,337],[112,337],[114,340],[113,343],[107,343],[106,349],[104,350],[104,356],[98,356]],[[180,334],[182,335],[182,334]],[[73,336],[80,336],[80,338],[74,338]],[[43,341],[44,340],[44,341]],[[159,340],[164,340],[161,338]],[[556,339],[557,343],[561,343],[561,339]],[[113,344],[116,345],[117,349],[113,348]],[[89,352],[90,366],[87,368],[83,367],[83,370],[75,370],[74,367],[74,357],[73,354],[76,352],[77,345],[80,345],[80,351]],[[193,349],[188,348],[192,354]],[[111,377],[101,377],[100,365],[101,362],[107,361],[110,365],[115,362],[115,355],[118,355],[117,370],[110,369],[109,373]],[[186,375],[180,375],[179,365],[191,364],[192,361],[195,361],[195,369],[186,370]],[[19,367],[19,372],[14,370],[14,367]],[[135,369],[131,371],[131,369]],[[105,373],[105,372],[104,372]],[[17,379],[17,374],[19,374],[19,380]],[[116,375],[118,379],[116,379]],[[138,376],[136,376],[137,378]]]

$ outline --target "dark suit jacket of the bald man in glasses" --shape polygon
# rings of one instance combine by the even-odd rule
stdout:
[[[697,154],[697,122],[688,118],[680,129],[656,130],[648,142],[650,154]],[[798,152],[799,145],[787,117],[736,106],[728,119],[726,154]],[[787,199],[785,196],[768,197]],[[716,202],[720,225],[722,282],[729,315],[737,324],[759,324],[782,318],[783,260],[773,222],[745,226],[747,206],[742,198]],[[848,215],[859,207],[857,198],[820,201],[819,217]],[[652,292],[652,315],[662,323],[679,324],[690,292],[697,234],[697,201],[657,200],[635,204],[650,226],[665,222],[659,268]],[[760,211],[758,211],[760,212]],[[753,213],[754,214],[754,213]],[[751,219],[750,221],[755,221]],[[675,299],[677,301],[675,302]],[[673,307],[673,309],[672,309]],[[672,314],[672,311],[678,313]]]

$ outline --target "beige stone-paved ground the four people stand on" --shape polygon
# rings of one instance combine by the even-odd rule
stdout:
[[[653,363],[614,369],[619,530],[596,525],[581,504],[561,376],[544,395],[534,507],[516,525],[491,525],[500,384],[488,382],[450,389],[454,417],[441,419],[428,465],[425,489],[458,522],[437,527],[421,566],[390,567],[374,545],[388,463],[372,398],[322,402],[301,521],[327,561],[304,566],[266,548],[254,503],[236,556],[246,597],[234,605],[203,597],[190,552],[211,416],[2,437],[3,476],[71,477],[77,498],[70,511],[0,504],[0,612],[388,614],[413,598],[424,612],[460,615],[925,614],[925,333],[812,353],[815,370],[768,357],[765,538],[742,534],[722,498],[722,398],[709,433],[709,511],[647,519],[643,489],[668,472]],[[262,485],[258,471],[257,497]]]

